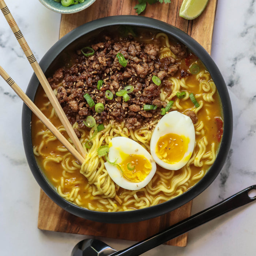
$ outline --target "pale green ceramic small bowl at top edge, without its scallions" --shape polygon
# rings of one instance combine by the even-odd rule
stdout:
[[[48,9],[54,11],[54,12],[59,12],[63,14],[71,14],[75,12],[80,12],[87,7],[89,7],[91,4],[93,4],[96,0],[84,0],[83,3],[79,4],[72,4],[69,5],[68,7],[64,7],[61,3],[56,2],[54,0],[39,0],[45,7]]]

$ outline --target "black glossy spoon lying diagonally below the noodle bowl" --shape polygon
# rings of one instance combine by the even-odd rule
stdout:
[[[256,189],[256,185],[248,187],[233,196],[223,200],[222,202],[215,204],[203,210],[183,221],[180,221],[167,229],[146,238],[145,240],[138,242],[124,250],[117,251],[111,248],[109,245],[97,239],[85,239],[80,241],[74,247],[71,256],[136,256],[141,255],[144,252],[155,248],[181,234],[188,232],[189,230],[198,227],[220,215],[229,212],[235,208],[243,206],[256,200],[256,195],[250,197],[249,192]]]

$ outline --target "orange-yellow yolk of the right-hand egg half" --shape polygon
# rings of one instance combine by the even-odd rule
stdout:
[[[188,144],[188,137],[174,133],[167,133],[159,138],[155,147],[155,153],[166,163],[178,163],[187,152]],[[189,158],[190,157],[191,155]]]

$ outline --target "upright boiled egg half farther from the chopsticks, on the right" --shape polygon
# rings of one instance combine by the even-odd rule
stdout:
[[[195,128],[190,117],[172,111],[156,125],[150,140],[150,153],[158,165],[178,170],[191,158],[195,147]]]

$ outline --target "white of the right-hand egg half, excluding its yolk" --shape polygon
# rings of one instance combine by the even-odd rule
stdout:
[[[160,159],[155,150],[160,137],[174,133],[189,138],[188,149],[185,155],[177,163],[168,163]],[[178,170],[182,168],[191,158],[195,147],[195,128],[190,117],[178,111],[165,114],[156,125],[150,140],[150,153],[155,162],[167,170]]]

